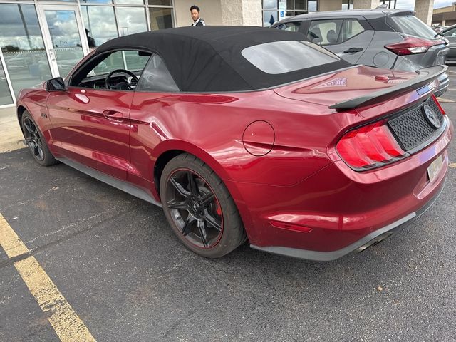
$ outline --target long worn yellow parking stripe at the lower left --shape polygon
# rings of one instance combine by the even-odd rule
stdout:
[[[0,245],[9,258],[28,254],[29,250],[21,241],[16,232],[0,214]],[[81,321],[65,297],[57,289],[46,271],[38,264],[35,257],[29,256],[14,263],[16,270],[21,275],[35,297],[38,305],[48,321],[56,331],[58,338],[63,342],[95,341],[86,325]]]

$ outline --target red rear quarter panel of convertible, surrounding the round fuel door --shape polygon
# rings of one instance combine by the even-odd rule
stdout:
[[[185,150],[224,180],[293,185],[330,162],[326,147],[339,120],[344,120],[331,113],[321,105],[281,98],[272,90],[137,93],[130,113],[132,170],[150,180],[163,152]],[[269,123],[275,133],[274,146],[264,146],[271,152],[261,157],[249,154],[242,141],[244,130],[257,120]]]

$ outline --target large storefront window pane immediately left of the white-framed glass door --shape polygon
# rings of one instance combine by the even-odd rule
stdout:
[[[0,4],[0,47],[16,96],[52,77],[33,4]]]

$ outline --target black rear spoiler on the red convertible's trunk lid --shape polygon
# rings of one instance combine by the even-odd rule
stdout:
[[[392,94],[400,95],[402,93],[407,93],[413,89],[420,90],[420,86],[429,86],[430,81],[442,75],[442,73],[445,73],[445,71],[447,71],[447,68],[447,66],[430,66],[429,68],[417,70],[416,73],[418,73],[418,76],[415,78],[412,78],[403,83],[399,83],[398,85],[392,86],[390,88],[378,90],[375,93],[371,93],[369,95],[363,95],[359,98],[352,98],[351,100],[339,102],[335,105],[330,105],[329,108],[336,110],[354,109],[361,107],[361,105],[369,105],[371,103],[379,102],[380,100],[388,98]],[[427,93],[427,91],[432,90],[432,88],[435,88],[435,86],[427,87],[426,91],[423,91],[420,93],[420,95]]]

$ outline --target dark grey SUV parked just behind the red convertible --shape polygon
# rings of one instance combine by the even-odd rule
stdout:
[[[297,31],[349,63],[416,71],[445,64],[448,43],[420,21],[414,11],[359,9],[292,16],[271,26]],[[439,77],[437,96],[447,90],[447,73]]]

